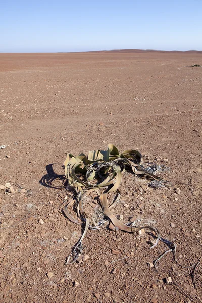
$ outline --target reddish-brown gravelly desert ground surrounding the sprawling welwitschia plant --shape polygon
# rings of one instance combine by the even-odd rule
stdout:
[[[0,54],[2,302],[202,301],[202,67],[193,64],[202,53]],[[149,250],[148,232],[101,229],[87,232],[84,260],[65,265],[82,233],[62,213],[66,153],[109,143],[170,167],[161,189],[125,173],[113,212],[153,222],[176,243],[177,262],[169,252],[153,267],[168,247]]]

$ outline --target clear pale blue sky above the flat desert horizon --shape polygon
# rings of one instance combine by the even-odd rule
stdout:
[[[1,0],[0,52],[202,49],[202,0]]]

